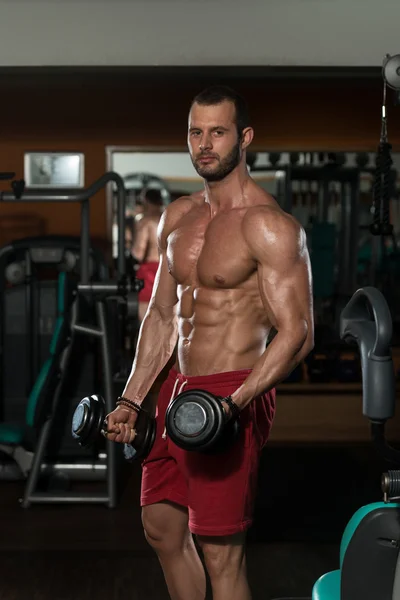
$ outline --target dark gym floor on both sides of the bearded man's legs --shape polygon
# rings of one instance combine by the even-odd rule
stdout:
[[[247,549],[253,600],[310,597],[316,579],[338,566],[350,516],[381,499],[385,468],[370,447],[267,448]],[[114,510],[23,509],[23,482],[0,483],[0,600],[167,600],[141,527],[140,467],[127,463],[121,481]]]

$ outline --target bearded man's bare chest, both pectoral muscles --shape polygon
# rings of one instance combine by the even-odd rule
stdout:
[[[171,275],[181,285],[232,289],[255,270],[240,215],[185,219],[168,238]]]

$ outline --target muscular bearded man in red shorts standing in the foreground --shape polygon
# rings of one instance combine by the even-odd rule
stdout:
[[[123,394],[140,404],[177,344],[176,364],[158,398],[157,436],[143,463],[141,492],[145,536],[173,600],[205,598],[193,534],[214,600],[251,598],[245,537],[275,386],[314,343],[306,236],[249,176],[252,139],[235,92],[216,87],[194,99],[188,145],[204,191],[176,200],[162,216],[160,266]],[[272,327],[277,333],[267,346]],[[228,452],[185,452],[165,436],[168,403],[191,388],[230,395],[239,407],[241,433]],[[114,410],[109,438],[132,440],[136,416],[122,406]]]

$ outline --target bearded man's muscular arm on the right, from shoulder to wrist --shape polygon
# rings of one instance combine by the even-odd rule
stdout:
[[[261,299],[277,334],[232,394],[240,409],[284,380],[314,346],[312,275],[305,231],[293,217],[269,207],[249,215],[243,228],[257,263]]]

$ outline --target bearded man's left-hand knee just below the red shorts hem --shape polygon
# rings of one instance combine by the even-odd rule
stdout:
[[[144,535],[150,546],[161,553],[182,550],[191,539],[187,510],[167,502],[144,506]]]

